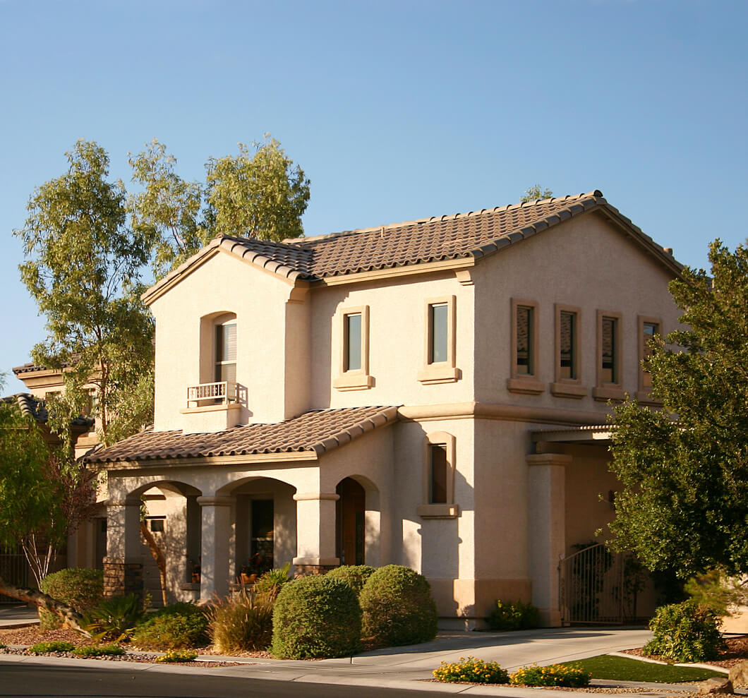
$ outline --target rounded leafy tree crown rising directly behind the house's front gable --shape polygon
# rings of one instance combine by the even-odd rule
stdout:
[[[301,215],[309,202],[309,180],[266,134],[253,143],[254,154],[240,143],[239,155],[211,158],[207,198],[215,216],[213,232],[281,241],[304,234]]]

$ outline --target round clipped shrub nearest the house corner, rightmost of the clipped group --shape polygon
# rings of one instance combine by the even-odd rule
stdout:
[[[423,575],[409,567],[380,567],[364,584],[362,633],[375,646],[412,645],[436,637],[436,604]]]

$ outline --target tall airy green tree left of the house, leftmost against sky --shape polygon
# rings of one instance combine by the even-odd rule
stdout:
[[[153,319],[139,297],[150,241],[126,226],[125,188],[108,181],[105,151],[78,141],[66,155],[67,173],[34,191],[25,226],[14,231],[26,257],[22,281],[46,316],[48,337],[31,355],[47,368],[67,367],[50,425],[66,435],[93,385],[109,444],[109,423],[123,416],[119,398],[153,361]]]

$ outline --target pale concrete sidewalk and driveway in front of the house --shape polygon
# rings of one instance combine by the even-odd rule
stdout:
[[[0,628],[28,623],[36,616],[28,608],[0,608]],[[17,626],[17,625],[16,625]],[[512,633],[497,632],[441,632],[435,640],[420,645],[378,649],[355,657],[320,661],[286,661],[277,659],[216,657],[203,655],[200,659],[239,661],[236,667],[180,667],[178,665],[137,664],[135,662],[106,662],[96,660],[0,655],[0,661],[25,664],[60,662],[75,667],[111,667],[133,671],[200,672],[213,676],[242,676],[257,679],[277,679],[299,683],[323,683],[351,686],[376,686],[410,691],[439,691],[485,696],[515,696],[538,698],[537,689],[503,686],[467,686],[431,682],[432,671],[441,661],[457,661],[475,656],[497,661],[511,671],[527,664],[555,664],[595,655],[640,647],[649,640],[648,630],[640,628],[545,628]],[[595,681],[594,685],[621,685]],[[666,695],[667,689],[684,690],[682,685],[634,684],[642,693]],[[627,687],[630,688],[630,687]],[[631,694],[628,694],[631,695]]]

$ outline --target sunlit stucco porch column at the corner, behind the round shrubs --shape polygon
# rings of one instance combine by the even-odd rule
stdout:
[[[335,557],[335,492],[301,492],[296,502],[297,575],[322,574],[340,565]]]

